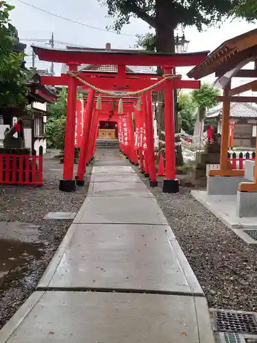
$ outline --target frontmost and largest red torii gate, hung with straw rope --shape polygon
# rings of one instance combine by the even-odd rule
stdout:
[[[64,50],[51,49],[45,47],[32,46],[34,53],[40,60],[47,62],[59,62],[69,66],[69,73],[62,74],[60,77],[42,77],[41,83],[48,85],[66,85],[68,86],[67,99],[67,118],[66,118],[66,136],[64,148],[64,171],[63,179],[60,180],[60,190],[74,191],[76,189],[76,180],[73,176],[74,161],[74,138],[75,138],[75,110],[77,86],[87,82],[90,91],[88,94],[88,103],[86,106],[86,119],[84,125],[84,135],[82,142],[82,151],[79,156],[80,172],[77,174],[77,183],[84,182],[83,169],[86,169],[86,158],[88,154],[88,140],[90,127],[96,126],[97,116],[93,110],[94,95],[93,87],[107,89],[108,91],[141,91],[148,87],[155,90],[165,89],[165,140],[166,140],[166,179],[164,180],[163,191],[174,193],[178,192],[178,180],[175,179],[175,135],[174,135],[174,106],[173,106],[173,89],[174,88],[199,88],[197,81],[182,81],[173,75],[165,78],[158,75],[145,74],[127,74],[126,65],[137,66],[160,66],[164,69],[164,75],[171,75],[174,67],[189,67],[201,62],[208,55],[208,51],[193,54],[149,54],[149,53],[117,53],[112,51],[87,51],[87,50]],[[118,66],[118,73],[115,75],[103,75],[106,73],[77,73],[79,64],[112,64]],[[73,73],[73,75],[72,75]],[[77,78],[79,76],[79,78]],[[165,79],[165,80],[164,80]],[[156,82],[161,81],[161,84]],[[154,86],[156,85],[156,86]],[[103,92],[99,92],[103,93]],[[143,93],[143,92],[141,92]],[[143,96],[145,108],[149,108],[151,98]],[[91,132],[92,132],[91,130]],[[96,131],[97,129],[95,129]],[[149,130],[147,132],[149,135]],[[96,136],[96,134],[95,134]],[[154,137],[152,137],[154,139]],[[151,140],[151,139],[150,139]],[[78,170],[78,171],[79,171]],[[83,174],[83,178],[82,178]]]

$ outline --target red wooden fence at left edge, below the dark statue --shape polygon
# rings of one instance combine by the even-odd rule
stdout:
[[[15,151],[15,150],[14,150]],[[0,184],[42,186],[43,148],[29,154],[0,154]]]

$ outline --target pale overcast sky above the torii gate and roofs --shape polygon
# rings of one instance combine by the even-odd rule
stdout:
[[[136,34],[145,34],[149,32],[149,25],[140,19],[132,19],[130,25],[123,27],[121,34],[115,34],[105,31],[106,26],[112,25],[113,19],[108,18],[107,9],[99,4],[97,0],[23,0],[28,4],[34,5],[42,10],[64,16],[73,21],[79,21],[85,25],[97,27],[86,27],[78,25],[64,19],[51,16],[40,10],[25,5],[18,0],[7,0],[15,9],[11,12],[12,24],[18,29],[21,42],[27,44],[27,67],[32,66],[32,43],[36,45],[45,45],[47,40],[51,39],[51,33],[54,34],[54,40],[63,43],[56,43],[56,47],[65,49],[65,43],[73,45],[82,45],[86,47],[104,48],[106,43],[111,43],[116,49],[134,48],[136,43]],[[235,20],[226,21],[220,29],[210,27],[204,32],[197,32],[195,27],[186,27],[185,36],[190,40],[188,52],[212,51],[218,47],[224,40],[243,34],[256,25]],[[182,34],[178,32],[178,34]],[[44,40],[37,42],[36,40]],[[68,44],[68,45],[69,45]],[[49,45],[48,45],[49,46]],[[50,69],[47,62],[36,60],[38,69]],[[178,72],[185,74],[191,68],[181,69]],[[56,75],[60,73],[61,66],[55,64]],[[208,82],[213,80],[207,79]]]

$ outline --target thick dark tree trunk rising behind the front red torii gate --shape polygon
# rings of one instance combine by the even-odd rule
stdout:
[[[156,0],[156,51],[162,53],[175,53],[174,29],[177,23],[174,18],[174,12],[171,8],[170,0]],[[173,70],[175,72],[175,69]],[[159,68],[158,73],[163,73]],[[164,89],[158,92],[158,137],[159,150],[164,148],[165,141],[165,117],[164,117]],[[174,91],[174,121],[175,132],[178,132],[178,111],[177,111],[177,93]],[[177,140],[178,141],[178,140]],[[183,164],[182,148],[176,146],[176,165]]]

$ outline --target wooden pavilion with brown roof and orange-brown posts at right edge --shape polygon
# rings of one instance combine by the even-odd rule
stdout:
[[[249,62],[254,62],[254,69],[243,69]],[[204,60],[188,73],[189,78],[199,80],[215,73],[223,88],[223,95],[217,99],[223,103],[221,122],[221,157],[220,169],[210,170],[209,176],[219,176],[219,185],[225,187],[230,180],[238,178],[238,192],[257,191],[257,159],[254,171],[254,182],[241,182],[245,176],[244,170],[232,170],[228,163],[228,141],[230,130],[230,104],[257,103],[255,96],[238,95],[245,91],[257,91],[257,29],[226,40],[217,49],[212,51]],[[232,88],[232,78],[256,79],[236,88]],[[256,139],[257,147],[257,139]],[[209,178],[210,180],[210,178]],[[210,182],[214,182],[210,180]],[[235,181],[233,181],[235,182]]]

